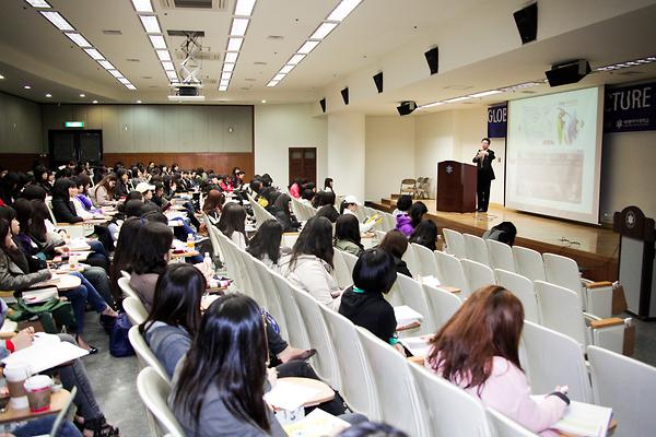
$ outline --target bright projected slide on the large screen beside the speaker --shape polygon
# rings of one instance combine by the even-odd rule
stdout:
[[[602,88],[508,103],[506,205],[599,221]]]

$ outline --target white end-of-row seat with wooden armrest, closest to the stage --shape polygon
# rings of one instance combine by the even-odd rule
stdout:
[[[575,292],[583,304],[583,309],[599,317],[612,314],[612,284],[582,281],[578,264],[572,258],[554,253],[543,253],[547,281]],[[588,287],[587,285],[604,285]]]

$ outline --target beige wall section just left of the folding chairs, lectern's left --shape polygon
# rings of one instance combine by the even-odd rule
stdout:
[[[366,117],[365,199],[379,202],[414,178],[414,118]]]

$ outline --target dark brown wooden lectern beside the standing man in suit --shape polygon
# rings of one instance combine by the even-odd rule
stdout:
[[[457,161],[437,164],[437,211],[476,211],[477,167]]]

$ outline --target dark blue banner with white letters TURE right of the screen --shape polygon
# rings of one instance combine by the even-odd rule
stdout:
[[[656,83],[606,88],[604,132],[656,130]]]

